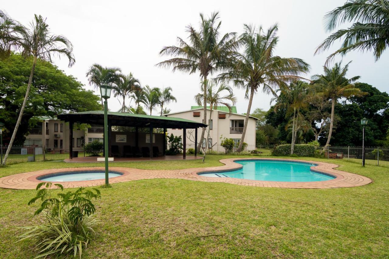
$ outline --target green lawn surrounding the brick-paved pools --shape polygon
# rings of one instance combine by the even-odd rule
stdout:
[[[143,169],[221,165],[188,161],[111,163]],[[301,159],[301,158],[300,158]],[[303,158],[302,158],[303,159]],[[313,158],[307,158],[312,160]],[[123,257],[389,257],[389,170],[342,160],[339,169],[373,179],[362,187],[280,189],[178,179],[139,180],[100,189],[102,221],[85,258]],[[21,163],[0,176],[102,163]],[[30,242],[14,243],[20,226],[38,224],[30,190],[0,189],[0,258],[31,258]],[[207,236],[214,235],[214,236]]]

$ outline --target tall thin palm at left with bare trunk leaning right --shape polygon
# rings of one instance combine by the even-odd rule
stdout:
[[[32,78],[35,71],[35,66],[37,65],[37,60],[42,59],[51,62],[53,54],[65,55],[68,60],[68,66],[72,66],[75,62],[73,56],[73,46],[70,41],[61,35],[53,35],[49,32],[49,26],[46,24],[46,19],[43,19],[42,16],[37,16],[35,14],[34,20],[31,24],[31,29],[26,29],[26,35],[22,41],[22,55],[26,58],[32,57],[32,68],[30,72],[30,78],[28,79],[26,95],[23,100],[23,104],[20,108],[18,121],[16,121],[16,126],[14,132],[12,133],[11,140],[7,151],[5,152],[3,165],[7,161],[8,154],[11,151],[12,144],[15,140],[16,132],[18,131],[24,109],[28,100],[28,95],[30,94]]]

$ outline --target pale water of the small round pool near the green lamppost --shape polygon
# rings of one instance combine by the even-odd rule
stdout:
[[[123,175],[123,173],[116,171],[108,171],[108,177],[117,177]],[[98,180],[105,179],[104,170],[91,170],[91,171],[69,171],[69,172],[60,172],[60,173],[51,173],[48,175],[42,175],[37,177],[37,180],[40,181],[50,181],[50,182],[73,182],[73,181],[88,181],[88,180]]]

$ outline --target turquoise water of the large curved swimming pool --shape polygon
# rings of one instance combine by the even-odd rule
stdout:
[[[243,168],[230,172],[201,173],[205,177],[231,177],[239,179],[276,182],[316,182],[335,177],[310,170],[311,163],[289,161],[251,160],[235,161]]]

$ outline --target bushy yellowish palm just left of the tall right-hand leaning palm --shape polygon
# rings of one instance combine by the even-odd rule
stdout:
[[[315,98],[312,85],[306,82],[298,81],[291,83],[289,89],[282,91],[282,96],[278,98],[279,102],[274,106],[277,110],[280,107],[287,108],[287,114],[293,112],[291,123],[291,154],[294,152],[294,145],[296,144],[297,133],[301,128],[301,125],[305,121],[304,115],[301,114],[302,108],[307,108],[310,101]],[[274,98],[272,99],[274,100]],[[287,128],[290,128],[287,126]]]

